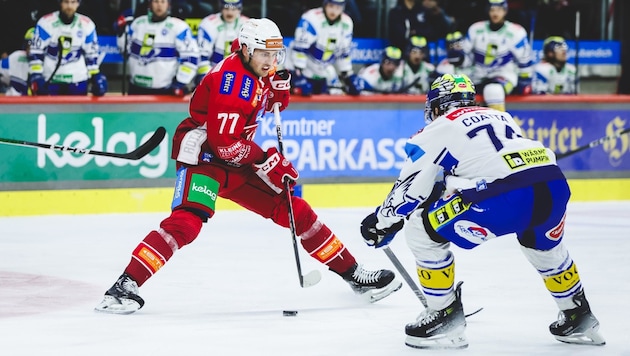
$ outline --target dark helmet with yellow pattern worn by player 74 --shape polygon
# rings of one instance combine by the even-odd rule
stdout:
[[[431,83],[427,93],[424,120],[428,124],[450,108],[477,105],[476,94],[475,84],[467,75],[441,75]]]

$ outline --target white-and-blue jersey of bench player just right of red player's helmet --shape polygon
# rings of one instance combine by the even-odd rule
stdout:
[[[337,73],[352,73],[352,32],[354,23],[345,13],[329,24],[320,8],[305,12],[295,29],[291,45],[291,64],[307,78],[332,78],[326,68],[334,65]]]

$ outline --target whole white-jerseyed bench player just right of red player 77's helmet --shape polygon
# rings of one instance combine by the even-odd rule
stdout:
[[[322,7],[308,10],[300,18],[290,51],[294,93],[328,94],[329,86],[338,79],[349,94],[360,93],[350,57],[354,23],[343,12],[345,5],[345,0],[324,0]],[[331,66],[335,70],[329,70]]]

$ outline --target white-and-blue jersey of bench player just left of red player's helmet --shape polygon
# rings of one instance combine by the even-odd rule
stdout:
[[[232,42],[248,19],[249,17],[241,15],[233,23],[226,23],[219,12],[201,20],[197,31],[200,52],[198,74],[208,73],[210,68],[231,53]]]

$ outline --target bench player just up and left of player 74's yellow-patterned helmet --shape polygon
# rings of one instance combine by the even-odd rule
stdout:
[[[403,81],[400,92],[425,94],[429,90],[435,66],[425,61],[426,50],[426,38],[423,36],[411,36],[409,38],[403,62]]]

